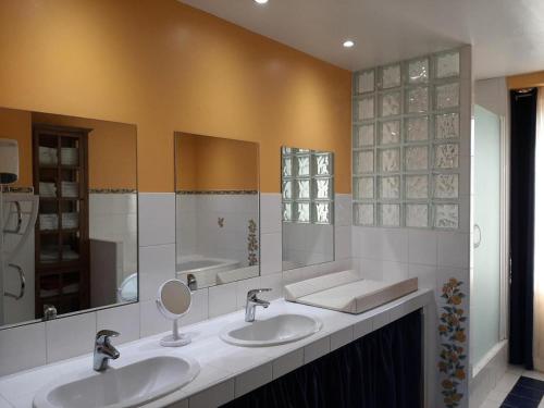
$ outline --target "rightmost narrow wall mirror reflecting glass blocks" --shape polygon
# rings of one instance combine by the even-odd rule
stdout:
[[[334,154],[282,148],[283,270],[334,261]]]

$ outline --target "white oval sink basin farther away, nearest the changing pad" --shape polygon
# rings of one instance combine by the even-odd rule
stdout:
[[[318,319],[302,314],[280,314],[252,323],[235,323],[221,332],[221,338],[235,346],[267,347],[296,342],[322,327]]]

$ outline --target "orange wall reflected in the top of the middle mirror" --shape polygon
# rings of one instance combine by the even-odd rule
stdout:
[[[176,190],[258,190],[259,145],[176,134]]]

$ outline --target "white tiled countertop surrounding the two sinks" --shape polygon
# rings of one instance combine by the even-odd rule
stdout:
[[[430,289],[419,289],[361,314],[347,314],[279,299],[272,301],[268,309],[259,308],[257,319],[282,313],[312,316],[323,322],[322,330],[310,337],[281,346],[236,347],[222,342],[218,334],[225,325],[244,320],[244,310],[238,310],[182,327],[183,333],[193,336],[193,343],[185,347],[161,347],[159,339],[164,334],[119,346],[121,357],[111,366],[124,366],[153,355],[193,357],[200,363],[198,376],[182,390],[145,407],[213,407],[429,305],[434,301],[433,296]],[[0,378],[0,408],[30,408],[39,388],[61,375],[79,376],[88,373],[92,370],[91,366],[92,356],[85,355]]]

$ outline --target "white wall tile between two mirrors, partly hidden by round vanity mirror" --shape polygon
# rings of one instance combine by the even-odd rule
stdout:
[[[156,299],[160,285],[175,277],[175,244],[140,247],[139,263],[139,299]]]

